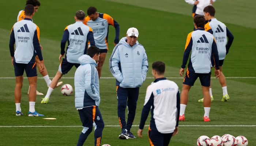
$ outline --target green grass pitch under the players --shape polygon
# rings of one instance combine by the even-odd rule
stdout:
[[[40,0],[40,2],[41,6],[33,17],[33,22],[40,28],[40,43],[44,47],[42,54],[50,77],[56,74],[60,64],[58,57],[64,28],[75,22],[74,15],[76,11],[82,9],[86,12],[88,7],[95,6],[98,12],[109,14],[120,24],[120,38],[125,36],[129,27],[138,28],[140,34],[138,41],[145,47],[150,64],[147,77],[152,77],[151,64],[154,61],[161,60],[166,63],[165,76],[174,77],[170,78],[170,80],[175,81],[181,91],[183,79],[177,78],[179,77],[178,71],[182,64],[187,34],[193,30],[192,6],[185,3],[185,1]],[[231,134],[235,137],[244,135],[249,141],[249,146],[256,145],[255,4],[255,0],[215,2],[216,18],[225,23],[234,35],[234,42],[224,62],[223,73],[226,77],[245,78],[226,79],[230,96],[230,101],[228,102],[221,102],[221,85],[218,79],[212,79],[214,101],[211,103],[211,122],[203,122],[203,104],[197,102],[198,99],[202,98],[202,89],[200,82],[196,81],[189,92],[189,102],[185,112],[186,121],[180,122],[178,134],[172,137],[170,141],[171,146],[195,146],[197,138],[201,135],[212,137],[213,135],[222,136],[224,134]],[[60,88],[56,88],[48,104],[41,104],[41,98],[44,96],[37,96],[36,110],[44,114],[44,118],[56,118],[56,120],[28,117],[28,80],[25,78],[21,102],[24,115],[15,116],[15,79],[6,78],[15,77],[8,44],[11,28],[16,22],[18,12],[25,7],[25,0],[2,1],[1,5],[3,13],[0,18],[0,145],[76,145],[82,127],[75,126],[82,126],[82,123],[74,106],[74,93],[66,97],[61,95]],[[103,65],[102,77],[112,77],[108,69],[108,62],[114,47],[114,27],[110,26],[109,31],[109,52]],[[74,73],[75,68],[63,77],[74,77]],[[38,77],[42,77],[41,74]],[[60,81],[63,81],[64,84],[71,84],[74,87],[74,79],[72,78],[63,78]],[[121,128],[118,126],[115,80],[113,78],[101,78],[99,81],[101,94],[99,109],[106,126],[103,130],[101,144],[108,143],[112,146],[149,145],[148,127],[144,128],[143,138],[118,139]],[[133,125],[139,125],[146,88],[152,81],[154,81],[153,78],[147,78],[140,88]],[[46,94],[48,88],[44,79],[38,78],[37,89]],[[149,124],[149,120],[150,118],[148,118],[146,125]],[[218,125],[227,126],[219,127]],[[234,125],[254,126],[234,127]],[[136,136],[137,130],[138,127],[135,126],[132,127],[131,132]],[[93,132],[89,135],[84,145],[94,145]]]

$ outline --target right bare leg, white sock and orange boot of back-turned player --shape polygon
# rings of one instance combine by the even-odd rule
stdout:
[[[202,86],[202,91],[203,91],[203,95],[204,95],[204,121],[205,122],[209,122],[209,113],[210,113],[210,109],[211,109],[211,96],[210,96],[210,91],[209,91],[209,87],[206,86]]]

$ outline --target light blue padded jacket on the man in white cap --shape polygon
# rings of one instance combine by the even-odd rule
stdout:
[[[144,47],[136,41],[132,47],[124,37],[114,47],[109,69],[116,78],[116,85],[123,88],[140,87],[146,80],[148,59]]]

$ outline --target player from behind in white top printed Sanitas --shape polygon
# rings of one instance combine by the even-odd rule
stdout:
[[[142,109],[138,136],[142,131],[151,109],[148,137],[151,146],[168,146],[173,135],[178,133],[180,115],[180,92],[178,85],[164,77],[165,63],[155,61],[152,75],[155,81],[147,87],[145,103]],[[151,108],[152,107],[152,108]]]

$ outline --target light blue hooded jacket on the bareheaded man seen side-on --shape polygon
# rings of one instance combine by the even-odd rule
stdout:
[[[99,106],[99,76],[96,61],[89,55],[78,58],[81,64],[75,72],[75,107]]]

